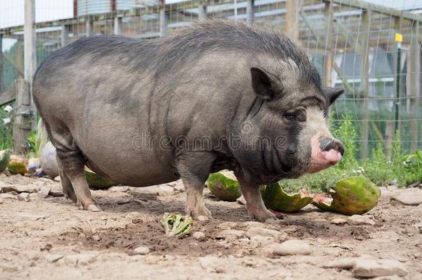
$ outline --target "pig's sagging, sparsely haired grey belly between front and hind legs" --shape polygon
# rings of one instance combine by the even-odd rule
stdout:
[[[123,185],[145,187],[178,179],[172,166],[171,149],[159,147],[151,136],[147,121],[114,118],[102,114],[86,115],[73,133],[87,165],[95,173]],[[139,115],[138,115],[139,117]],[[154,131],[157,132],[157,131]]]

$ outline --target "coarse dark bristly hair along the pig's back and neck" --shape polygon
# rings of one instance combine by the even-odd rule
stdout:
[[[95,35],[79,39],[55,55],[60,55],[62,62],[70,62],[75,59],[75,53],[91,53],[90,59],[94,63],[101,57],[110,59],[120,54],[120,64],[126,64],[134,71],[147,67],[160,75],[178,71],[186,62],[195,61],[206,53],[223,55],[225,51],[266,54],[280,61],[291,59],[302,75],[314,84],[320,84],[318,71],[309,62],[304,49],[288,39],[284,32],[226,19],[197,21],[157,39]]]

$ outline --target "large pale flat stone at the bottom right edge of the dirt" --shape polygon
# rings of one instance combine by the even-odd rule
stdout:
[[[354,277],[383,277],[390,275],[405,276],[405,266],[395,259],[367,260],[359,259],[354,266]]]

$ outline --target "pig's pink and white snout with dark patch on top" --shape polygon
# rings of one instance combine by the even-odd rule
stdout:
[[[311,164],[308,173],[336,165],[345,154],[345,146],[337,139],[314,136],[311,139]]]

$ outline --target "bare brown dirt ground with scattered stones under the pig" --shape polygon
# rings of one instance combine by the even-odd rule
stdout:
[[[59,183],[45,178],[0,174],[1,182],[48,185],[59,192]],[[147,203],[132,200],[128,192],[97,190],[93,196],[102,212],[80,210],[63,196],[31,194],[28,202],[3,196],[0,279],[352,279],[353,270],[325,265],[363,255],[396,259],[407,270],[404,279],[422,279],[422,234],[414,227],[422,220],[422,205],[405,206],[388,195],[365,214],[374,225],[335,224],[333,218],[346,217],[313,206],[283,215],[279,225],[250,222],[246,206],[208,195],[206,205],[214,220],[193,225],[205,241],[192,235],[167,238],[158,223],[165,212],[183,213],[181,192]],[[286,239],[308,242],[312,252],[278,256],[268,244],[277,241],[271,239],[221,238],[228,227],[240,234],[250,227],[284,232]],[[149,248],[149,254],[134,254],[138,246]]]

